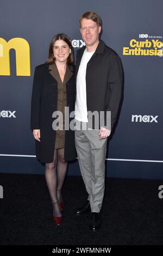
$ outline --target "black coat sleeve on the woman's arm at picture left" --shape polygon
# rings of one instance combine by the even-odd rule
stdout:
[[[30,129],[40,129],[40,108],[41,108],[41,87],[43,84],[43,74],[40,72],[39,66],[36,66],[34,72]]]

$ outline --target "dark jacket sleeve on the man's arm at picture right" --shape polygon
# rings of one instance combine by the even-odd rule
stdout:
[[[120,57],[114,54],[111,58],[108,76],[108,99],[105,99],[105,112],[111,112],[111,130],[117,118],[118,107],[122,96],[122,64]],[[110,130],[110,129],[109,129]]]

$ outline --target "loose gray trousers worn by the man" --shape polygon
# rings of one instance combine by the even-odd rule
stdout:
[[[76,120],[82,125],[82,122]],[[87,123],[84,123],[87,124]],[[86,125],[87,126],[87,125]],[[75,130],[80,171],[89,194],[91,211],[99,212],[105,188],[106,139],[99,139],[99,130]]]

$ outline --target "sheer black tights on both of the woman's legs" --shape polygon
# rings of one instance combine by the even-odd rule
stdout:
[[[67,162],[64,159],[64,148],[54,149],[54,159],[52,163],[45,164],[45,177],[49,194],[53,203],[53,216],[61,216],[58,201],[62,201],[61,189],[64,184],[67,171]],[[56,203],[56,204],[55,204]]]

